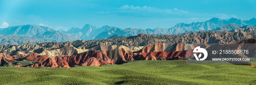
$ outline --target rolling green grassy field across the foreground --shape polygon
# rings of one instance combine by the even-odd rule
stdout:
[[[256,67],[233,64],[185,64],[185,62],[185,60],[145,60],[101,67],[0,67],[0,84],[256,84]]]

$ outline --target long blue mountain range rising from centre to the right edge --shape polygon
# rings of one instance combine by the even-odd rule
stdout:
[[[252,18],[251,20],[248,20],[248,21],[242,21],[237,18],[230,18],[228,21],[221,20],[219,18],[211,18],[206,22],[192,22],[191,24],[179,23],[179,24],[176,24],[174,27],[170,27],[170,28],[156,28],[156,29],[146,29],[146,30],[131,29],[131,28],[120,29],[117,27],[110,27],[104,30],[102,33],[99,33],[94,39],[106,39],[115,34],[128,37],[128,36],[138,35],[139,33],[152,34],[152,35],[164,35],[164,34],[182,35],[184,33],[198,32],[202,30],[206,32],[210,32],[209,30],[215,30],[216,32],[219,32],[219,31],[233,30],[245,25],[249,25],[249,26],[256,25],[255,18]]]

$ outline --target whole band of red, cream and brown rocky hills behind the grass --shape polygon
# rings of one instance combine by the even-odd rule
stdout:
[[[252,29],[251,26],[240,28]],[[185,59],[186,51],[192,51],[197,46],[206,49],[218,47],[204,43],[255,43],[255,39],[249,39],[255,37],[255,32],[222,31],[186,35],[139,34],[125,38],[59,43],[24,43],[0,45],[0,57],[1,66],[15,67],[99,66],[131,60],[181,60]]]

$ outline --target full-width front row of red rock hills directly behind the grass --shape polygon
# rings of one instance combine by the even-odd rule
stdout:
[[[246,39],[245,41],[237,43],[256,43],[256,39]],[[114,49],[114,50],[98,50],[98,51],[87,51],[79,54],[72,55],[62,55],[62,56],[53,56],[41,55],[38,53],[31,53],[29,55],[5,55],[0,53],[0,66],[15,66],[15,67],[75,67],[75,66],[100,66],[105,64],[120,64],[124,61],[132,60],[183,60],[187,58],[188,51],[192,53],[193,48],[200,46],[206,48],[206,50],[214,50],[216,48],[234,48],[236,50],[241,50],[246,47],[246,45],[234,45],[234,43],[228,44],[185,44],[185,43],[176,43],[176,44],[165,44],[165,43],[154,43],[148,46],[145,46],[139,51],[131,52],[125,50],[124,48]],[[33,45],[25,45],[33,49]],[[164,47],[167,46],[165,49]],[[249,45],[251,46],[251,45]],[[148,51],[150,47],[150,51]],[[174,48],[176,50],[166,49]],[[250,50],[250,52],[255,50]],[[253,52],[252,52],[253,53]],[[192,54],[191,54],[192,55]],[[245,56],[253,57],[254,54],[245,54]],[[211,55],[209,55],[211,56]],[[244,58],[241,55],[231,55],[236,58]]]

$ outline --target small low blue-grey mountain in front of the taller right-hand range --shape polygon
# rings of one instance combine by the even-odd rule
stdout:
[[[242,27],[242,26],[237,25],[237,24],[225,24],[225,25],[222,25],[220,27],[217,27],[214,30],[230,31],[230,30],[233,30],[233,29],[236,29],[236,28],[239,28],[239,27]]]

